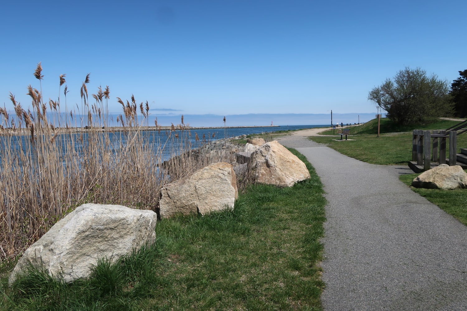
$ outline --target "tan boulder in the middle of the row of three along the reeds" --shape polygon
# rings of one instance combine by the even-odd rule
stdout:
[[[237,180],[231,164],[213,163],[191,176],[164,186],[161,195],[161,218],[176,214],[205,215],[233,208],[238,198]]]

